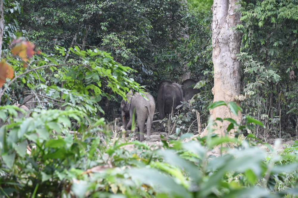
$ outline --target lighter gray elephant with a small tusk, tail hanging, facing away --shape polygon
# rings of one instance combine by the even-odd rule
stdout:
[[[151,125],[153,125],[153,115],[155,111],[155,101],[150,93],[145,92],[146,100],[139,93],[133,93],[131,90],[128,92],[128,101],[121,101],[121,116],[123,120],[124,129],[130,129],[132,125],[132,117],[135,111],[135,118],[139,133],[137,138],[139,141],[144,141],[144,127],[147,120],[147,140],[150,140]]]

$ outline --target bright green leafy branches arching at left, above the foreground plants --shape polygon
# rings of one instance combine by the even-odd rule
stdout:
[[[65,55],[66,49],[56,49]],[[20,58],[7,55],[16,79],[10,86],[5,85],[1,104],[20,100],[24,93],[35,93],[41,107],[80,110],[88,116],[87,120],[96,120],[99,111],[104,113],[99,103],[103,96],[126,98],[130,89],[141,91],[139,84],[129,77],[135,70],[116,63],[110,54],[98,49],[80,50],[77,46],[70,49],[70,54],[80,60],[63,63],[59,56],[41,53],[31,59],[27,68],[23,68]],[[105,88],[111,88],[113,93],[106,93]]]

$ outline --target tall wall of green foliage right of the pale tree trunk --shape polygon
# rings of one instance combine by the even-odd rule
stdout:
[[[281,131],[279,135],[287,137],[297,124],[298,1],[241,4],[243,45],[238,59],[243,65],[242,94],[247,96],[242,106],[246,114],[264,121],[271,135]]]

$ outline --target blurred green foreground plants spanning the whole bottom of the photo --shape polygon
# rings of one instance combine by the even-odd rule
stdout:
[[[10,106],[1,109],[15,111]],[[103,119],[87,126],[82,122],[84,116],[76,110],[43,110],[21,120],[10,116],[15,124],[0,128],[1,196],[296,195],[297,144],[278,155],[269,145],[266,152],[253,142],[218,137],[209,130],[202,138],[184,142],[184,135],[180,140],[150,147],[138,141],[110,139]],[[71,119],[80,123],[76,135],[69,133]],[[210,126],[214,124],[210,120]],[[25,152],[27,139],[34,141],[30,155]],[[221,147],[231,143],[233,149]],[[209,155],[218,146],[224,155]]]

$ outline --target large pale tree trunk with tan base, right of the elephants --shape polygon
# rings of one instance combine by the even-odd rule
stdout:
[[[240,94],[240,63],[236,54],[240,51],[240,32],[233,27],[240,23],[240,13],[235,12],[240,5],[237,0],[214,0],[212,19],[212,61],[214,65],[214,87],[212,94],[214,101],[236,101]],[[210,110],[211,119],[232,118],[241,121],[241,113],[235,116],[226,106],[219,106]],[[224,135],[229,122],[218,122],[215,133]],[[201,136],[207,135],[207,130]]]

